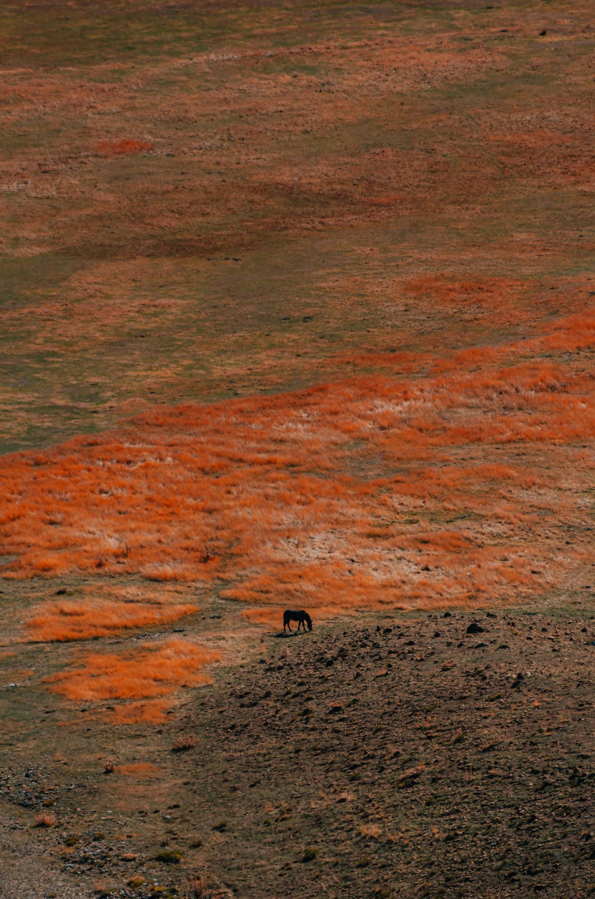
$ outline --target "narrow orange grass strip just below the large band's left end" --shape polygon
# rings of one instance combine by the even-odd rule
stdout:
[[[31,643],[89,640],[120,628],[149,628],[175,621],[197,611],[197,606],[153,605],[136,602],[51,601],[33,610],[25,622],[25,639]]]

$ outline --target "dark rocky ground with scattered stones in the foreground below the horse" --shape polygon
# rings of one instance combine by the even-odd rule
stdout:
[[[594,638],[519,610],[268,636],[147,737],[156,778],[6,768],[0,895],[591,895]]]

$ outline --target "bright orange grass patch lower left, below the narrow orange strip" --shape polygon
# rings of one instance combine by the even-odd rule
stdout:
[[[67,699],[149,699],[209,683],[202,669],[219,658],[187,640],[167,640],[128,653],[88,654],[83,667],[52,674],[42,682]]]

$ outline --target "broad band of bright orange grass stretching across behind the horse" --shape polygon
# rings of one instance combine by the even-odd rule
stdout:
[[[588,516],[594,347],[585,312],[427,377],[180,405],[6,457],[4,577],[215,583],[255,619],[535,596],[577,562],[560,521]]]

